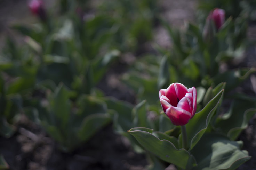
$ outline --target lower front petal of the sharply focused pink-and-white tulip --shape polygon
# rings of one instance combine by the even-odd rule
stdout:
[[[191,114],[188,111],[173,106],[166,110],[166,115],[176,126],[183,126],[187,124],[191,118]]]

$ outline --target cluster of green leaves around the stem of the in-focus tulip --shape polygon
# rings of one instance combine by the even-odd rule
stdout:
[[[219,115],[225,85],[220,83],[215,88],[210,87],[204,97],[201,97],[203,103],[207,102],[206,105],[185,125],[188,150],[181,147],[183,139],[180,128],[168,126],[168,118],[163,118],[164,115],[160,116],[159,127],[165,133],[145,127],[132,128],[128,133],[133,135],[145,150],[179,168],[235,169],[249,160],[250,156],[247,151],[240,150],[242,141],[232,140],[247,127],[256,110],[248,109],[255,108],[255,102],[244,98],[235,100],[228,113]],[[165,131],[166,128],[170,130]],[[181,155],[183,158],[179,158]]]

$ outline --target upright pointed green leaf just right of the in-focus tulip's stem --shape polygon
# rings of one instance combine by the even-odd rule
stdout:
[[[223,91],[224,90],[221,90],[201,111],[194,115],[188,124],[186,124],[187,140],[190,145],[190,149],[197,144],[203,133],[205,133],[215,110],[220,105]]]

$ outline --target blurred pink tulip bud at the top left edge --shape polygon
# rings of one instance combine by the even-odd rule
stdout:
[[[46,21],[46,11],[43,7],[42,0],[31,0],[28,4],[29,9],[34,15],[39,16],[42,21]]]

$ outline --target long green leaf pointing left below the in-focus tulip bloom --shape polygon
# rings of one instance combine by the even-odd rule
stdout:
[[[185,149],[177,149],[173,143],[167,140],[169,139],[168,137],[163,137],[164,135],[161,134],[161,137],[163,137],[163,140],[161,140],[150,132],[149,130],[143,131],[134,128],[128,131],[129,134],[136,138],[139,144],[160,159],[183,169],[190,169],[196,165],[194,157]]]

